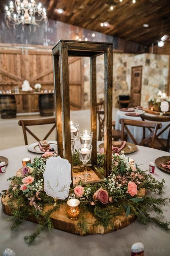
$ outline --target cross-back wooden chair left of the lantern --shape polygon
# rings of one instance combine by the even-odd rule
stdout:
[[[30,131],[28,129],[27,126],[33,126],[33,125],[47,125],[47,124],[54,124],[52,126],[52,128],[48,131],[48,133],[46,134],[46,136],[43,139],[39,139],[32,131]],[[23,129],[23,134],[24,134],[24,140],[25,140],[25,145],[28,145],[28,140],[27,140],[27,133],[26,131],[32,135],[34,137],[34,139],[36,139],[38,142],[40,140],[46,140],[48,138],[48,136],[52,133],[52,131],[55,129],[56,127],[56,120],[55,117],[52,118],[43,118],[43,119],[27,119],[27,120],[19,120],[18,124],[20,126],[22,126]]]

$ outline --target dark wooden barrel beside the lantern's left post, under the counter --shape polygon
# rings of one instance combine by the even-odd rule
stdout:
[[[40,116],[53,116],[54,114],[54,94],[39,94]]]

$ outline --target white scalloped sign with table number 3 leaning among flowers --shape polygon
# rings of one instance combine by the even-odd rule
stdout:
[[[71,164],[68,160],[57,157],[49,157],[43,174],[44,191],[48,196],[65,199],[69,196],[71,184]]]

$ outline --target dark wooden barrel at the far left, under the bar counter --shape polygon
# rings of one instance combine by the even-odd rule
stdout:
[[[0,95],[0,114],[1,118],[16,117],[15,95]]]

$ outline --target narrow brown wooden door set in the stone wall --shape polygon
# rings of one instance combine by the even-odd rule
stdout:
[[[142,66],[132,67],[131,100],[133,106],[141,104]]]

